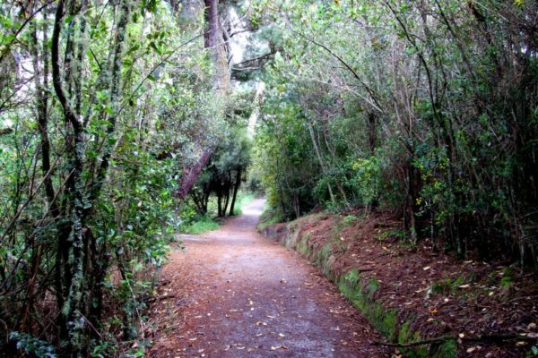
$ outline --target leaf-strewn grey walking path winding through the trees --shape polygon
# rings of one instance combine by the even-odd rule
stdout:
[[[387,357],[377,332],[295,251],[256,233],[263,200],[185,236],[152,307],[151,357]]]

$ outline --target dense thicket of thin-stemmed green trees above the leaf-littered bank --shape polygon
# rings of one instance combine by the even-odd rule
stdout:
[[[537,265],[538,61],[514,27],[536,4],[253,6],[278,34],[256,138],[273,208],[392,209],[413,243]]]

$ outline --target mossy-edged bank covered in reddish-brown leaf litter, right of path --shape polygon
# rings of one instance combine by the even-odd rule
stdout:
[[[401,226],[382,211],[367,217],[322,211],[266,226],[263,233],[317,262],[341,287],[343,278],[349,283],[345,277],[358,272],[351,275],[358,284],[350,298],[393,341],[448,343],[450,337],[457,356],[538,356],[534,273],[507,261],[434,253],[429,240],[412,245]],[[429,356],[434,345],[420,347]]]

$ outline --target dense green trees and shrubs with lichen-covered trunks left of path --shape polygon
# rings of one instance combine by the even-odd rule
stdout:
[[[194,215],[177,215],[180,168],[229,135],[224,101],[202,22],[182,28],[153,0],[69,3],[56,18],[61,4],[0,5],[0,316],[29,354],[47,314],[57,327],[39,337],[58,355],[142,356],[147,342],[120,341],[139,336]]]

